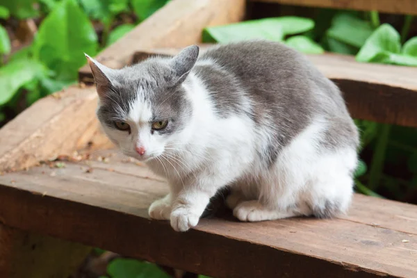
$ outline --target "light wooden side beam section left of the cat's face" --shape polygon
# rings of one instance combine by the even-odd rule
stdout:
[[[0,129],[0,172],[86,147],[97,133],[95,88],[72,86],[38,100]],[[99,136],[98,136],[99,137]],[[101,140],[97,147],[112,147]]]

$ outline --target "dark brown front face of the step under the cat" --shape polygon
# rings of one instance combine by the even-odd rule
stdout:
[[[10,210],[2,211],[1,219],[10,227],[42,232],[43,223],[54,220],[54,224],[48,227],[48,236],[70,241],[82,238],[81,244],[212,277],[322,277],[323,270],[330,277],[386,275],[357,265],[204,231],[205,226],[222,224],[215,218],[202,219],[202,229],[177,233],[168,222],[146,218],[146,211],[139,213],[143,216],[117,213],[8,186],[0,186],[0,204],[10,207]],[[19,215],[13,215],[17,207],[24,209]],[[34,219],[32,212],[24,213],[28,209],[36,211],[38,218]],[[74,215],[82,221],[71,221],[71,227],[68,227],[67,220]],[[80,218],[79,215],[83,216]],[[101,233],[92,234],[88,232],[90,230]]]

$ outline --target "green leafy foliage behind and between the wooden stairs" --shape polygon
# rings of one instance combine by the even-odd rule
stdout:
[[[84,52],[95,56],[168,1],[0,0],[0,127],[34,101],[76,83]],[[417,66],[417,26],[410,15],[259,6],[252,18],[270,18],[206,28],[202,40],[267,38],[306,54],[330,51],[360,63]],[[417,129],[355,122],[362,142],[356,190],[417,204]],[[167,275],[151,263],[115,259],[106,277]]]

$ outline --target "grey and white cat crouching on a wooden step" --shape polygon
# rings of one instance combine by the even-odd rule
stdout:
[[[255,40],[199,56],[193,45],[120,70],[87,58],[106,135],[170,185],[151,218],[186,231],[224,187],[241,221],[350,206],[357,127],[336,85],[297,51]]]

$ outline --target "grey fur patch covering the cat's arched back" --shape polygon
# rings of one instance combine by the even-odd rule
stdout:
[[[222,115],[242,111],[245,97],[250,99],[255,122],[279,123],[280,145],[317,117],[329,122],[327,141],[357,145],[357,130],[340,90],[306,56],[284,44],[221,44],[202,53],[195,69]]]

